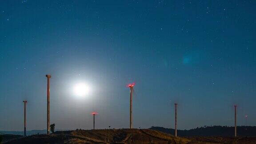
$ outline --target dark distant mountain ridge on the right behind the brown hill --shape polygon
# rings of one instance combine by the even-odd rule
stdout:
[[[151,127],[149,129],[175,134],[172,128]],[[256,136],[256,126],[237,126],[237,136]],[[178,136],[234,136],[234,127],[227,126],[204,126],[190,130],[177,130]]]

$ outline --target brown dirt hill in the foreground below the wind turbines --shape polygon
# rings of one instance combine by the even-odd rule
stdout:
[[[151,129],[57,131],[32,135],[4,144],[256,144],[256,137],[175,137]]]

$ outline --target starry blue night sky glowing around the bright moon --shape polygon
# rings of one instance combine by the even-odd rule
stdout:
[[[0,130],[256,125],[255,0],[0,0]],[[76,96],[86,83],[90,92]]]

